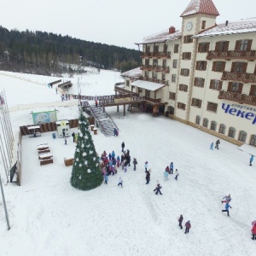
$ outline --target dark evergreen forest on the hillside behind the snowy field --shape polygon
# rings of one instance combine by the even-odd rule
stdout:
[[[139,51],[61,36],[20,32],[0,26],[0,69],[12,72],[82,73],[84,66],[125,72],[140,65]]]

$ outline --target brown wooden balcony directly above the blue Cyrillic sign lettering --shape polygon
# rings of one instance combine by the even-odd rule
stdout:
[[[219,90],[218,99],[225,99],[231,102],[256,106],[256,96],[248,96],[232,91]]]

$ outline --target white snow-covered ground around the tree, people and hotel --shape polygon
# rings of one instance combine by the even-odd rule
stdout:
[[[78,102],[61,107],[60,95],[45,84],[55,78],[8,73],[0,74],[13,131],[31,125],[31,111],[58,110],[58,119],[78,118]],[[68,80],[68,78],[62,78]],[[30,80],[30,81],[27,81]],[[71,93],[77,93],[73,78]],[[101,71],[80,79],[82,95],[113,94],[122,81],[119,73]],[[48,102],[45,107],[44,102]],[[256,162],[249,166],[252,147],[238,150],[221,140],[219,150],[210,150],[213,137],[189,125],[147,113],[117,113],[106,108],[119,126],[119,137],[92,134],[98,154],[114,150],[121,155],[121,143],[137,158],[137,171],[119,169],[108,185],[84,192],[70,183],[72,167],[64,157],[73,157],[73,138],[22,138],[21,186],[3,186],[11,229],[7,230],[0,196],[1,255],[255,255],[251,222],[256,218]],[[76,131],[76,129],[74,129]],[[37,145],[49,143],[54,163],[39,166]],[[144,162],[148,160],[151,181],[145,184]],[[164,171],[174,162],[179,177],[164,181]],[[3,166],[0,173],[4,180]],[[117,186],[118,177],[124,188]],[[154,195],[157,181],[163,195]],[[230,218],[221,212],[224,195],[231,194]],[[190,220],[189,234],[178,227],[183,214]],[[253,253],[254,252],[254,253]]]

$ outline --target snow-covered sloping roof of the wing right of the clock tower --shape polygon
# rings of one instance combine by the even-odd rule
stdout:
[[[216,35],[241,34],[247,32],[256,32],[256,18],[229,22],[214,26],[205,32],[195,35],[193,38],[212,37]]]

